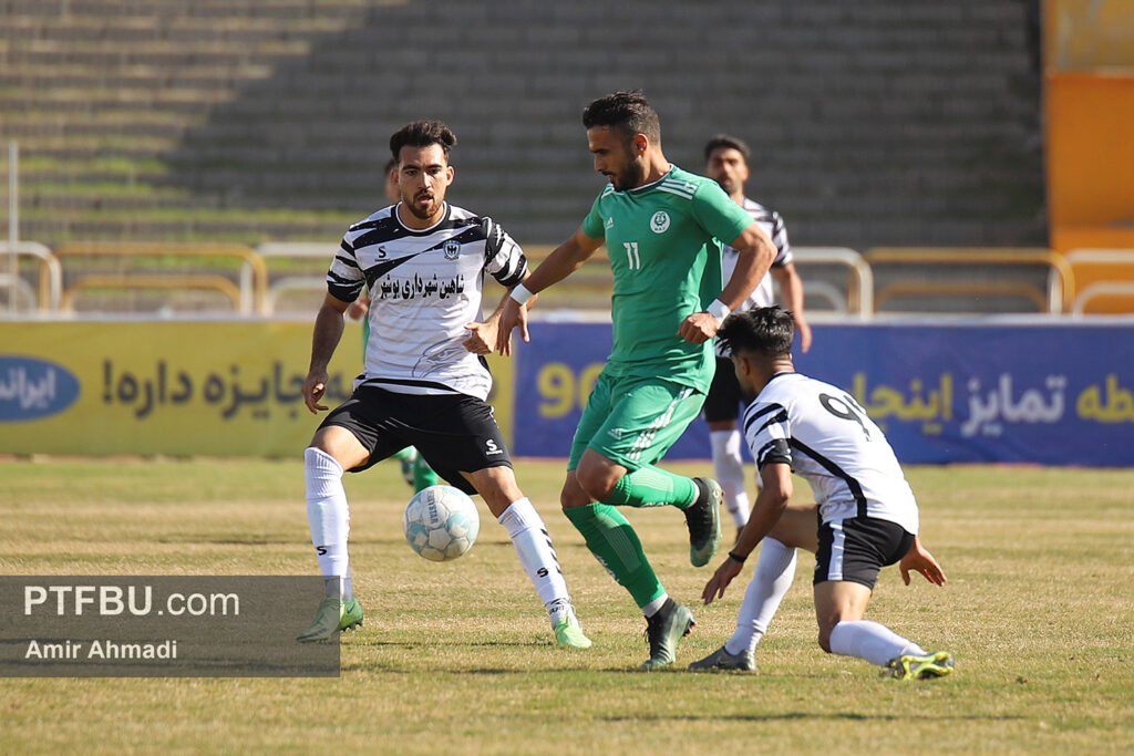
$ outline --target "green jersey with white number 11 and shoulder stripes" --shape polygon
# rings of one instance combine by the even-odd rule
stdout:
[[[626,192],[607,185],[583,220],[583,232],[606,238],[615,273],[608,373],[709,390],[712,339],[689,343],[677,329],[720,294],[721,241],[733,241],[752,222],[716,181],[676,165]]]

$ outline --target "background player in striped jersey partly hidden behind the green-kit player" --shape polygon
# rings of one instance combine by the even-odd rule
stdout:
[[[752,151],[742,139],[727,134],[718,134],[709,139],[704,148],[705,176],[717,181],[736,204],[744,207],[752,220],[760,223],[776,245],[776,260],[760,284],[752,290],[737,311],[767,307],[776,304],[772,280],[779,284],[780,296],[787,309],[795,316],[795,330],[799,334],[799,348],[811,348],[811,328],[803,316],[803,282],[795,270],[792,245],[787,240],[787,227],[775,210],[744,196],[744,184],[748,180],[748,158]],[[721,270],[726,280],[736,266],[738,254],[726,245],[721,255]],[[712,449],[713,475],[725,492],[725,509],[733,516],[736,532],[748,521],[748,493],[744,485],[744,460],[741,456],[741,432],[736,427],[739,408],[744,404],[741,387],[733,373],[733,363],[717,348],[717,374],[705,397],[704,415],[709,423],[709,441]],[[759,478],[758,478],[759,483]]]

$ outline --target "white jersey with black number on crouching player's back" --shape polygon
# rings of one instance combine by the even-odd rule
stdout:
[[[811,484],[824,523],[868,516],[917,535],[917,502],[894,449],[849,393],[779,373],[744,413],[756,467],[792,466]]]

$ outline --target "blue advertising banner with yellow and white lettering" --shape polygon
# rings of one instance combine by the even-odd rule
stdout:
[[[1134,329],[1077,323],[813,328],[803,373],[844,388],[911,464],[1134,466]],[[516,365],[514,451],[566,457],[610,325],[533,323]],[[705,459],[696,421],[667,455]]]

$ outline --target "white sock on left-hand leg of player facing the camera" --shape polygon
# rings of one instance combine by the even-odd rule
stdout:
[[[347,559],[350,509],[342,489],[342,466],[314,447],[310,447],[303,457],[307,481],[307,525],[319,558],[319,569],[328,578],[327,595],[350,601],[354,597]]]

